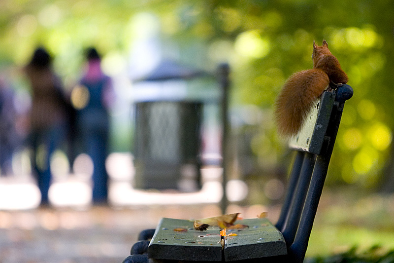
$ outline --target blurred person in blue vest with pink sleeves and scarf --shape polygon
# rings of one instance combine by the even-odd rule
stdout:
[[[108,175],[105,159],[108,155],[109,113],[113,99],[112,82],[101,70],[101,57],[94,47],[86,52],[87,69],[79,85],[83,104],[77,111],[77,127],[81,136],[83,151],[93,161],[93,202],[107,202]]]

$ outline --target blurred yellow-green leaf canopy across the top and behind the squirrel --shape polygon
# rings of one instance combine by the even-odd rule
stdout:
[[[86,46],[128,56],[135,39],[146,33],[136,18],[154,14],[161,38],[176,43],[183,61],[207,70],[230,63],[232,105],[262,111],[251,149],[260,163],[269,160],[272,166],[285,149],[271,121],[275,97],[289,75],[312,67],[313,40],[326,39],[355,90],[328,180],[373,187],[390,157],[392,1],[2,0],[0,10],[1,64],[21,66],[43,44],[65,77],[77,74]]]

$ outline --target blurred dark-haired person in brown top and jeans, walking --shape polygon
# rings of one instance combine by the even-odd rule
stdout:
[[[38,47],[25,67],[30,81],[32,109],[29,141],[33,150],[33,173],[41,191],[41,204],[49,202],[51,184],[50,158],[65,139],[67,102],[60,78],[52,69],[52,57],[43,47]]]

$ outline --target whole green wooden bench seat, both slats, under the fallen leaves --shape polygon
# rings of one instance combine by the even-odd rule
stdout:
[[[267,219],[245,219],[235,224],[248,225],[243,229],[228,229],[225,239],[225,261],[256,259],[285,255],[286,243],[283,235]],[[174,228],[186,228],[187,232],[176,232]],[[177,261],[222,261],[220,229],[210,226],[207,231],[193,229],[188,220],[163,218],[158,225],[149,248],[149,258]]]

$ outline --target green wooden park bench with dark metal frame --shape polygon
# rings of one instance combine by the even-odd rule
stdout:
[[[346,84],[324,92],[302,130],[290,141],[296,156],[275,225],[266,218],[239,220],[234,224],[248,227],[231,230],[237,235],[226,237],[219,235],[219,227],[201,232],[193,228],[193,221],[163,218],[156,229],[140,233],[140,241],[124,263],[303,262],[344,103],[352,95],[353,89]]]

